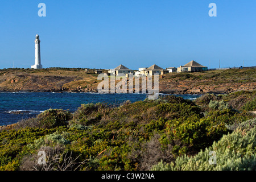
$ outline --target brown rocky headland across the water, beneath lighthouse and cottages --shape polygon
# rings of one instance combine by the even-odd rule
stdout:
[[[81,68],[1,69],[0,92],[97,92],[101,82],[97,76],[94,69]],[[160,93],[232,93],[255,89],[255,68],[159,76]]]

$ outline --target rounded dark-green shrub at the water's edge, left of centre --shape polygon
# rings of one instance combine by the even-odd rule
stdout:
[[[68,125],[67,121],[71,119],[71,113],[62,109],[49,109],[40,113],[37,118],[39,119],[40,126],[50,129],[52,127]]]

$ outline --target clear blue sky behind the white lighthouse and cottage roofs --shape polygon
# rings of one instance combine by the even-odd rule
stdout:
[[[46,4],[46,17],[38,4]],[[217,17],[210,17],[209,3]],[[0,68],[256,65],[256,1],[9,0],[0,2]]]

